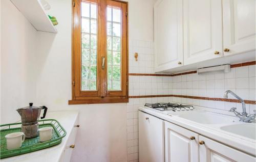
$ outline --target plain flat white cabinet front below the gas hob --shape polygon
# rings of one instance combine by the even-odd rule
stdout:
[[[164,122],[139,111],[139,161],[164,161]]]

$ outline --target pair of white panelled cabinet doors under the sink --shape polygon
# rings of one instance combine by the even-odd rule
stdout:
[[[164,121],[165,162],[255,162],[255,157]]]

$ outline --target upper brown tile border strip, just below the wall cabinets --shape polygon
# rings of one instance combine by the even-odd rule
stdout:
[[[232,65],[230,65],[230,68],[236,68],[236,67],[241,67],[241,66],[249,66],[249,65],[256,65],[256,61],[245,62],[245,63],[239,63],[239,64],[232,64]],[[187,72],[182,72],[182,73],[177,73],[177,74],[141,74],[141,73],[129,73],[129,75],[133,75],[133,76],[178,76],[178,75],[186,75],[186,74],[193,74],[193,73],[197,73],[197,71],[187,71]]]

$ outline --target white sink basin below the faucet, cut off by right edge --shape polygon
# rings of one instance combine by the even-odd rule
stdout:
[[[255,138],[255,123],[234,124],[221,127],[222,130],[238,134],[249,139]]]

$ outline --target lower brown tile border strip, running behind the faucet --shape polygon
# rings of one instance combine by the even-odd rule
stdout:
[[[226,99],[226,98],[210,98],[210,97],[198,97],[198,96],[183,96],[183,95],[147,95],[147,96],[129,96],[129,98],[153,98],[153,97],[180,97],[180,98],[191,98],[191,99],[203,99],[211,101],[225,101],[225,102],[236,102],[240,103],[238,99]],[[246,104],[256,104],[253,100],[244,100]]]

